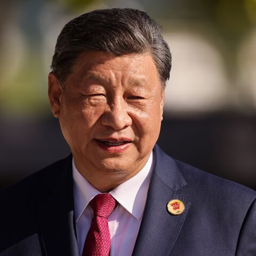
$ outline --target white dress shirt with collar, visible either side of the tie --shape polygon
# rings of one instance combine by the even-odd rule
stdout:
[[[93,218],[89,203],[94,196],[101,193],[78,172],[74,159],[72,164],[77,243],[79,255],[82,255],[85,238]],[[152,152],[139,173],[110,191],[119,203],[108,218],[110,256],[132,255],[146,204],[153,164]]]

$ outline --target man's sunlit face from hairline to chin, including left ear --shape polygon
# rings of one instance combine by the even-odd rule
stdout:
[[[84,52],[62,90],[49,76],[49,97],[80,167],[132,176],[145,165],[164,102],[150,54]]]

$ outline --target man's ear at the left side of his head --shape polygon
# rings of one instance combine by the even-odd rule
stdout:
[[[61,87],[58,79],[50,73],[48,76],[48,98],[52,114],[58,118],[60,114]]]

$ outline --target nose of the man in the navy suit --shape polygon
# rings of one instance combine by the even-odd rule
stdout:
[[[127,105],[122,99],[117,99],[108,105],[101,116],[101,124],[114,130],[122,130],[132,124],[132,118],[127,111]]]

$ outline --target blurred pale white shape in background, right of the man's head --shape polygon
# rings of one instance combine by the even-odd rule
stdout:
[[[229,81],[219,51],[189,31],[166,34],[164,38],[172,53],[166,111],[203,113],[226,105]]]

